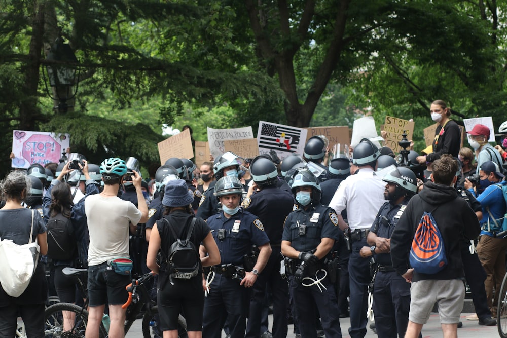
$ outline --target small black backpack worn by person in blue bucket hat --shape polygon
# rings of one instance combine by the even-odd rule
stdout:
[[[169,220],[164,217],[172,235],[176,238],[176,241],[171,244],[167,253],[167,273],[171,278],[190,279],[199,273],[201,264],[199,251],[194,243],[190,241],[190,236],[194,232],[196,219],[195,217],[192,219],[187,232],[187,238],[182,240],[176,235]]]

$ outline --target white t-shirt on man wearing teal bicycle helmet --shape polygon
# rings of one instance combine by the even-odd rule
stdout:
[[[99,194],[86,198],[90,246],[88,265],[99,265],[118,257],[129,257],[129,222],[137,224],[141,212],[132,202]]]

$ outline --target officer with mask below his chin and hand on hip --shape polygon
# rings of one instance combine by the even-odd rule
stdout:
[[[215,277],[204,301],[203,337],[220,338],[227,319],[231,338],[244,338],[249,289],[256,283],[271,254],[261,220],[239,208],[242,194],[243,186],[237,177],[225,176],[215,184],[215,196],[222,204],[222,212],[210,216],[207,223],[222,262],[213,267]],[[252,245],[259,248],[259,255],[248,271],[244,256],[250,255]]]

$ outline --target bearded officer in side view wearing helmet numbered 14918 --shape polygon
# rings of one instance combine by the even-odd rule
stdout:
[[[387,156],[387,155],[385,155]],[[391,157],[389,157],[391,158]],[[373,286],[373,313],[379,337],[403,338],[409,321],[410,283],[391,265],[389,238],[410,198],[417,191],[417,178],[412,170],[395,166],[383,181],[385,202],[375,217],[361,257],[375,256],[377,272]]]

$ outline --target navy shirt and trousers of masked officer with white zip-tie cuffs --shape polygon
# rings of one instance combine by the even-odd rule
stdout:
[[[291,246],[297,251],[309,252],[317,248],[322,238],[331,238],[336,241],[339,236],[340,229],[335,211],[317,203],[311,205],[308,210],[299,207],[289,213],[285,219],[282,241],[291,242]],[[316,279],[316,270],[323,268],[323,260],[319,261],[317,267],[307,268],[307,277]],[[296,262],[297,267],[299,260]],[[330,278],[328,276],[323,278],[319,289],[317,285],[304,286],[303,284],[310,283],[308,280],[303,280],[303,283],[297,282],[294,279],[294,272],[288,277],[289,294],[293,317],[298,323],[301,335],[303,337],[316,336],[316,305],[325,336],[341,338],[338,302]],[[323,272],[319,272],[317,276],[319,279],[322,278]]]

